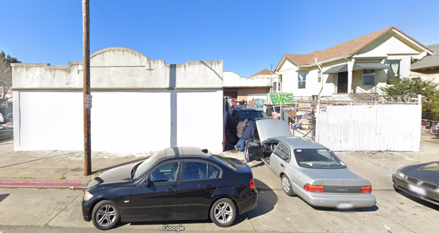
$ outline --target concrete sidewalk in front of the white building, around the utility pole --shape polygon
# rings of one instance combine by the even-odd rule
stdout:
[[[84,176],[82,151],[13,151],[13,141],[0,142],[0,187],[85,187],[95,176],[145,160],[153,153],[92,152],[92,175]]]

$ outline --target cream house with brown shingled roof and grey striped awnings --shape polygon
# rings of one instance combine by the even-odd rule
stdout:
[[[379,93],[388,78],[410,77],[410,65],[433,51],[387,27],[309,54],[285,54],[275,69],[282,92],[294,96]]]

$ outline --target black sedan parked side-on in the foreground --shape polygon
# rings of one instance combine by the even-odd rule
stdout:
[[[251,169],[207,149],[163,149],[144,162],[111,169],[87,186],[85,221],[107,230],[119,221],[210,218],[220,227],[256,207]]]

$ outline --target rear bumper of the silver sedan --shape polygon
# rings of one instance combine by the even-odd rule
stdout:
[[[337,209],[372,207],[377,199],[372,194],[329,194],[303,192],[300,197],[311,206]]]

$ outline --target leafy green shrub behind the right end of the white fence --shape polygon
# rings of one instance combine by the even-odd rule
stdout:
[[[431,81],[408,78],[393,78],[389,86],[381,87],[387,95],[421,94],[422,119],[439,120],[439,91],[438,84]]]

